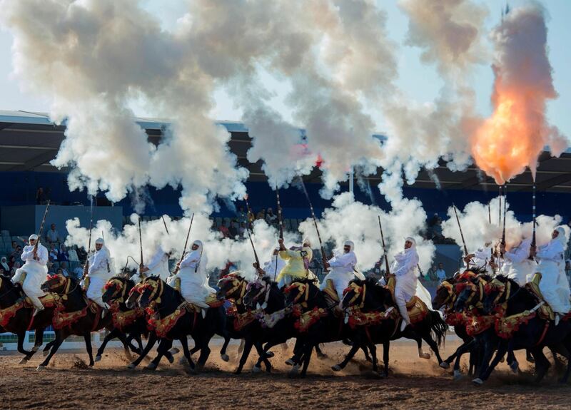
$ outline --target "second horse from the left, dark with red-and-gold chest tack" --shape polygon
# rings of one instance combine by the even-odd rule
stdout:
[[[103,309],[87,299],[83,289],[79,286],[79,281],[73,277],[65,277],[61,274],[51,275],[41,285],[41,289],[44,292],[55,293],[59,297],[59,306],[54,310],[53,319],[56,339],[46,359],[39,364],[37,369],[42,370],[46,368],[51,357],[56,354],[61,346],[61,343],[71,334],[84,337],[87,353],[89,354],[89,366],[93,367],[95,362],[93,352],[91,351],[91,332],[109,328],[111,315],[103,317]],[[126,344],[124,338],[121,342]]]

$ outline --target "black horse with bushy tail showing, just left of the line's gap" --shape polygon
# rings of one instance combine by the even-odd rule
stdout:
[[[439,347],[445,339],[448,326],[438,312],[429,310],[423,319],[412,326],[406,327],[401,332],[400,315],[397,314],[398,309],[393,300],[393,295],[388,287],[379,285],[375,278],[353,280],[344,293],[342,306],[348,314],[350,326],[353,324],[352,319],[354,318],[351,315],[354,312],[352,309],[355,309],[355,307],[358,307],[358,310],[363,312],[365,316],[367,313],[370,314],[370,324],[366,324],[366,322],[362,322],[365,324],[359,324],[358,321],[355,321],[353,325],[355,328],[354,337],[358,339],[359,343],[366,343],[372,349],[373,357],[376,357],[375,344],[383,344],[384,369],[380,376],[388,376],[390,340],[400,339],[401,337],[414,339],[417,342],[419,357],[429,359],[430,356],[422,351],[422,341],[425,340],[435,353],[438,363],[443,363]],[[433,334],[435,339],[433,339]],[[357,349],[357,346],[353,346],[353,349],[350,350],[343,362],[335,365],[333,370],[339,371],[343,369]],[[375,359],[373,359],[373,371],[378,373]]]

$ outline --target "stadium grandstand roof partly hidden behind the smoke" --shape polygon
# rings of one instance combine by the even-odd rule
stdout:
[[[158,143],[168,121],[156,118],[135,118],[136,123],[146,130],[151,143]],[[262,163],[250,163],[246,153],[251,147],[248,128],[236,121],[218,121],[231,133],[228,145],[238,156],[239,165],[250,170],[250,180],[266,180]],[[0,111],[0,172],[36,170],[40,172],[66,172],[57,170],[49,161],[56,157],[61,141],[64,140],[65,123],[54,124],[46,113],[29,111]],[[380,137],[380,135],[376,135]],[[380,137],[383,138],[383,137]],[[567,149],[560,158],[552,158],[543,152],[537,169],[537,189],[571,193],[571,149]],[[380,181],[383,170],[377,175],[365,177],[372,183]],[[320,170],[315,169],[306,180],[318,182]],[[435,170],[422,170],[414,188],[435,188],[435,180],[443,189],[480,190],[495,186],[492,178],[482,174],[475,166],[463,172],[453,172],[441,160]],[[510,181],[510,190],[528,190],[531,186],[530,171],[518,175]]]

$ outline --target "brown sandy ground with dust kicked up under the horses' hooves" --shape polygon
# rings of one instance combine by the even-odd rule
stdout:
[[[445,354],[458,345],[449,341]],[[306,379],[289,379],[283,362],[288,353],[274,349],[272,374],[252,374],[248,362],[244,374],[236,367],[236,346],[231,361],[222,362],[213,347],[203,373],[188,375],[184,367],[166,360],[154,372],[126,369],[122,350],[109,349],[94,369],[85,369],[84,352],[56,354],[48,369],[36,371],[41,353],[26,365],[20,357],[0,353],[2,409],[569,409],[571,385],[561,386],[553,371],[540,386],[532,384],[532,369],[522,355],[522,373],[511,374],[500,364],[485,386],[475,387],[465,376],[453,381],[434,357],[418,359],[415,344],[391,344],[388,379],[367,376],[370,364],[362,353],[348,367],[335,373],[347,347],[329,344],[327,359],[312,359]],[[379,349],[382,350],[382,349]],[[196,359],[196,357],[193,357]],[[463,364],[463,371],[465,371]]]

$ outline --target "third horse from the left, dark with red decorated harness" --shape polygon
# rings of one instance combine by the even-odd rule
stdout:
[[[131,348],[133,353],[138,355],[143,353],[143,342],[141,341],[141,336],[144,336],[147,339],[147,344],[151,348],[156,343],[156,335],[153,332],[148,332],[145,312],[143,309],[130,309],[126,305],[126,297],[130,294],[133,287],[135,287],[135,283],[132,280],[121,276],[111,277],[105,285],[105,291],[103,292],[101,299],[103,299],[104,303],[111,306],[109,310],[111,312],[113,330],[107,334],[105,339],[103,339],[103,343],[97,350],[97,354],[95,356],[96,362],[101,360],[101,356],[103,355],[103,351],[105,350],[107,343],[111,339],[119,337],[120,335],[129,335],[126,338],[128,347]],[[138,349],[131,344],[132,339],[136,340]],[[126,349],[125,352],[127,356],[130,355],[128,349]],[[169,362],[174,362],[173,356],[170,352],[166,353],[166,357]]]

